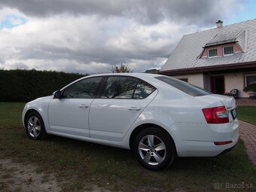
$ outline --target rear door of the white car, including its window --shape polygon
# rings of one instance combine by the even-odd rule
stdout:
[[[90,106],[90,137],[120,141],[157,94],[139,78],[109,76],[99,98]]]

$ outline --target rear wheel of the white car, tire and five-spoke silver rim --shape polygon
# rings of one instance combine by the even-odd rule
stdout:
[[[150,170],[157,171],[166,168],[176,157],[172,138],[157,127],[150,127],[139,132],[133,146],[139,163]]]

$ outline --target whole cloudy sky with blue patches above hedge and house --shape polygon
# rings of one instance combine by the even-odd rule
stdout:
[[[182,35],[256,18],[242,0],[1,0],[0,69],[160,68]]]

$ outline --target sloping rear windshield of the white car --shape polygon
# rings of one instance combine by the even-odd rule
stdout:
[[[171,77],[155,77],[160,81],[165,82],[166,84],[171,85],[172,87],[177,88],[178,90],[183,91],[184,93],[187,93],[190,96],[206,96],[210,93],[207,90],[203,90],[200,87],[194,86],[193,84],[188,84],[187,82],[171,78]]]

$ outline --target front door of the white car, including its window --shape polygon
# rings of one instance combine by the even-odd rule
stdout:
[[[62,90],[48,108],[50,131],[73,136],[89,136],[88,115],[102,77],[84,78]]]

